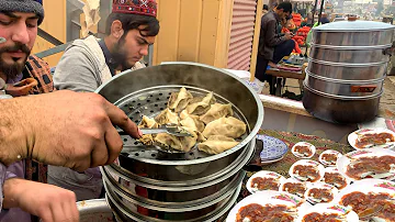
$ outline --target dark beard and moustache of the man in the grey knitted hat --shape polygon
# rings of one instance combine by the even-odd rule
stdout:
[[[7,52],[22,51],[26,54],[24,59],[19,59],[12,64],[8,64],[3,60],[2,54]],[[13,46],[5,46],[0,48],[0,71],[7,76],[7,79],[15,79],[18,75],[22,73],[25,67],[27,56],[31,54],[31,49],[23,44],[15,44]]]

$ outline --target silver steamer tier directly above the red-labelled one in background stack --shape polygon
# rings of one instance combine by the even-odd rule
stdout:
[[[379,80],[385,77],[387,63],[345,64],[308,59],[307,71],[317,76],[343,80]]]

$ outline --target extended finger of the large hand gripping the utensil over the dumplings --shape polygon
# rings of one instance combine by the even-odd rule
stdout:
[[[134,138],[142,137],[137,125],[127,118],[127,115],[114,104],[105,101],[105,111],[114,125],[120,126],[125,133]]]

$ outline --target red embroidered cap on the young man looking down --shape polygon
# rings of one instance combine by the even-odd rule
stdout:
[[[113,0],[113,12],[157,15],[156,0]]]

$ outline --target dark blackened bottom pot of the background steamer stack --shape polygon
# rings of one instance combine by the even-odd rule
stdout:
[[[304,85],[303,106],[313,116],[340,124],[372,120],[379,112],[380,97],[345,98],[324,95]]]

